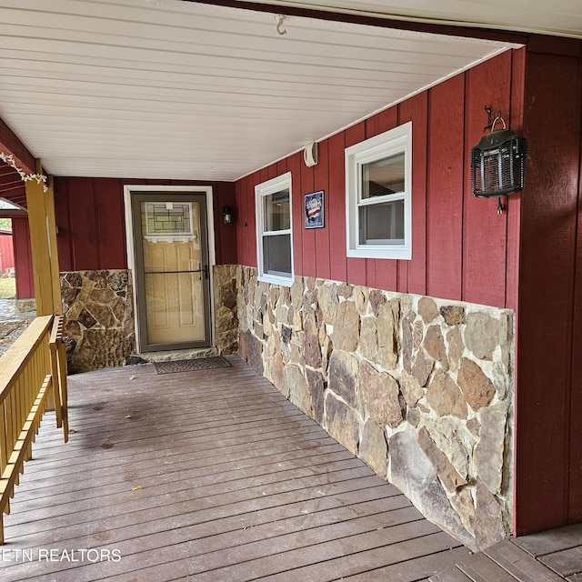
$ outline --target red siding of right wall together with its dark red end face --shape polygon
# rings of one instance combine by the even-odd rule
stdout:
[[[526,188],[503,200],[471,195],[469,153],[485,106],[527,136]],[[344,149],[413,122],[413,257],[346,259]],[[582,521],[582,42],[532,36],[527,49],[466,73],[319,144],[293,172],[296,275],[508,307],[517,313],[515,524],[517,534]],[[274,174],[275,173],[275,174]],[[238,262],[256,266],[254,187],[236,184]],[[326,191],[326,226],[301,220],[303,196]]]

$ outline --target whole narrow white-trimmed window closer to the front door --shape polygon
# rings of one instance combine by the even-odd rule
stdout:
[[[256,255],[260,281],[291,286],[291,173],[255,186]]]

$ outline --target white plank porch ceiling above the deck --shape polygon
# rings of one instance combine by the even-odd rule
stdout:
[[[580,32],[579,8],[563,4],[561,25],[541,9],[538,24]],[[443,5],[473,20],[504,8]],[[276,25],[180,0],[0,0],[0,117],[55,176],[233,180],[511,46],[304,16],[285,35]]]

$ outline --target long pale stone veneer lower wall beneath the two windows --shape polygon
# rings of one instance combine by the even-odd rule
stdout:
[[[511,532],[513,312],[228,268],[251,366],[468,547]]]

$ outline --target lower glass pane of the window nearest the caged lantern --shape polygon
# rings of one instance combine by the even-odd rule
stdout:
[[[360,206],[360,245],[404,244],[404,200]]]

